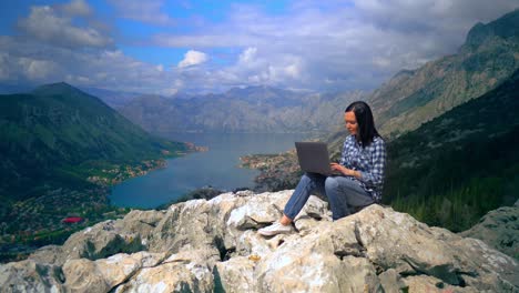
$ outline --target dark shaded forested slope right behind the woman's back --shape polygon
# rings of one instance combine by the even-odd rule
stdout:
[[[519,70],[388,144],[384,201],[462,231],[519,194]]]

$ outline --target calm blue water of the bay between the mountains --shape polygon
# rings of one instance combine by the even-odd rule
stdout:
[[[254,186],[257,170],[241,169],[240,156],[279,153],[294,148],[306,134],[207,134],[171,133],[175,141],[208,146],[207,152],[167,160],[165,169],[126,180],[112,188],[109,196],[116,206],[151,209],[169,203],[203,186],[221,190]]]

